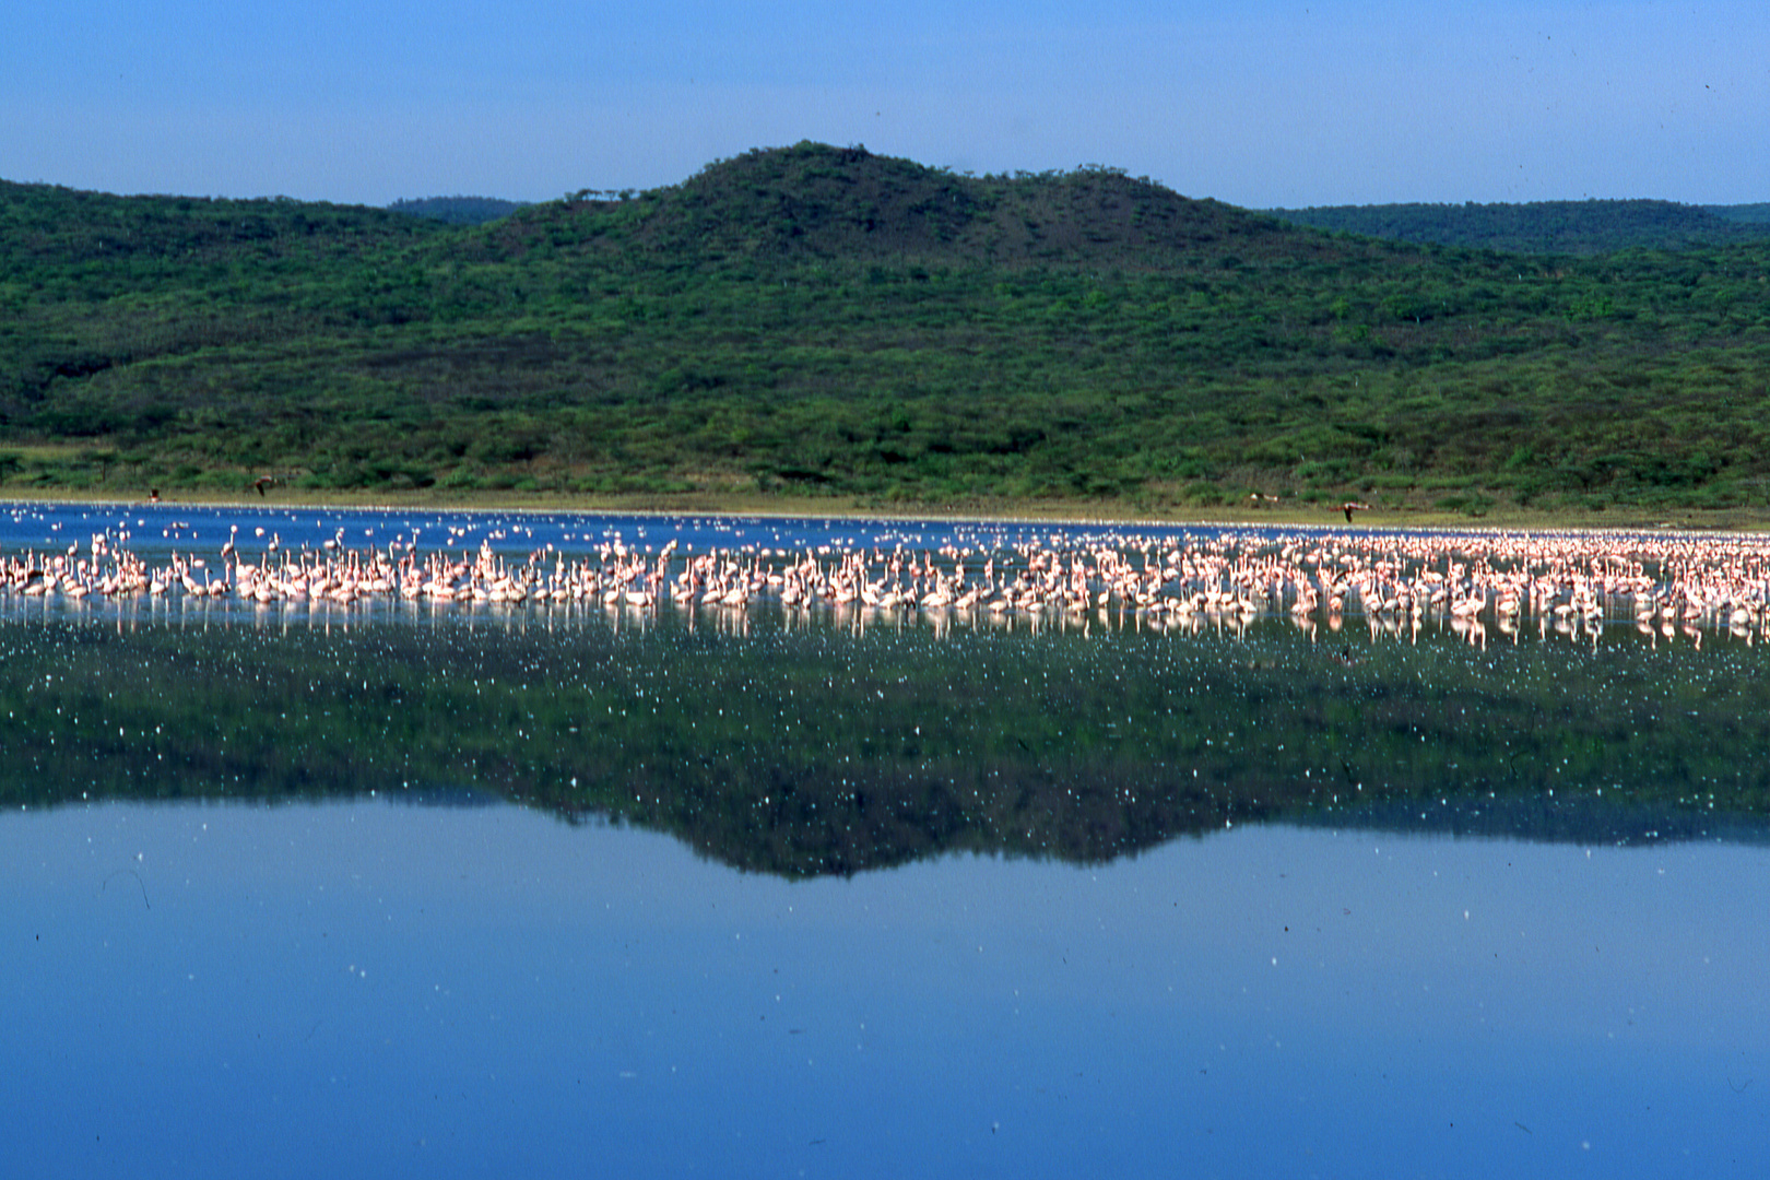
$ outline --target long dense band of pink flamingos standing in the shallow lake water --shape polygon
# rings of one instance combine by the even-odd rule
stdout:
[[[1643,630],[1770,630],[1770,540],[1749,534],[1119,534],[1087,541],[897,543],[800,550],[740,547],[660,552],[604,540],[568,554],[543,545],[512,557],[485,540],[419,550],[416,534],[352,548],[340,529],[290,550],[278,536],[219,552],[172,550],[158,564],[127,534],[96,533],[65,550],[0,554],[0,600],[230,598],[258,605],[411,601],[432,605],[598,607],[609,610],[880,614],[984,612],[1138,619],[1289,616],[1338,626],[1443,619],[1471,637],[1526,621],[1561,632],[1634,619]],[[450,541],[457,538],[451,534]],[[250,552],[248,552],[250,550]]]

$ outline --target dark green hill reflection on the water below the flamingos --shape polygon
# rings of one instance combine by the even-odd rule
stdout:
[[[1269,819],[1607,842],[1770,814],[1770,669],[1724,633],[186,616],[0,623],[0,658],[11,807],[469,791],[789,876]]]

